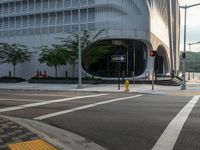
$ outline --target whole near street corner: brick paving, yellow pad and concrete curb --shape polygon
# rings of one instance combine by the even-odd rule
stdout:
[[[0,115],[0,150],[105,150],[69,131],[36,120]]]

